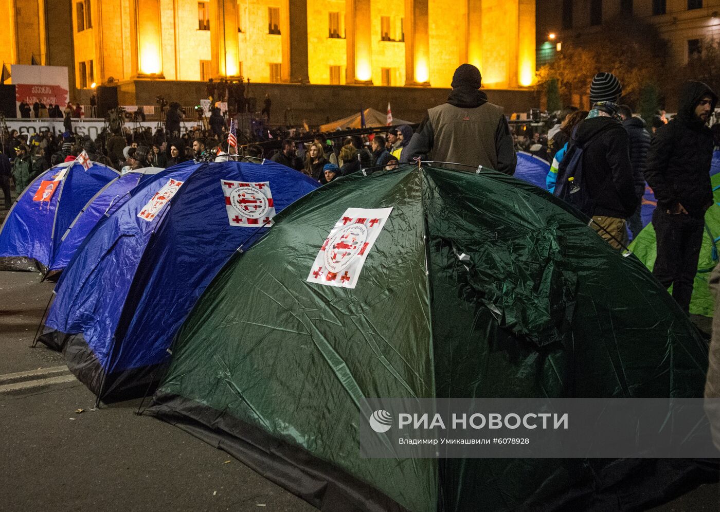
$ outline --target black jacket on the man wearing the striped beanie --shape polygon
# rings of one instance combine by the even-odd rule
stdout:
[[[558,176],[564,176],[575,145],[582,145],[582,179],[593,202],[593,215],[626,219],[635,212],[638,197],[632,178],[629,139],[613,117],[593,117],[577,127]]]

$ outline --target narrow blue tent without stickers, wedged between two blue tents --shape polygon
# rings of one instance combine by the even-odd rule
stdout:
[[[60,247],[55,251],[53,261],[50,262],[48,274],[57,274],[68,266],[73,254],[95,225],[100,220],[112,215],[115,210],[125,204],[127,199],[130,199],[135,188],[142,186],[150,176],[154,176],[160,171],[163,169],[158,167],[134,169],[118,176],[100,189],[78,213],[63,238],[60,238]]]

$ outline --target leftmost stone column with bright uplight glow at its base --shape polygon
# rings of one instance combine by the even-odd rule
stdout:
[[[132,78],[165,78],[160,0],[130,0]]]

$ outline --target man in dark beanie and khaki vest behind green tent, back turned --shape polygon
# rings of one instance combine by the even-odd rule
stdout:
[[[508,120],[502,107],[487,101],[481,85],[478,68],[460,65],[452,77],[448,101],[428,110],[400,161],[412,162],[427,156],[438,162],[515,174],[518,157]]]

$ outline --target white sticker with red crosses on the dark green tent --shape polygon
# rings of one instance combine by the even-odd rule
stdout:
[[[392,208],[348,208],[312,264],[307,282],[354,288]]]

